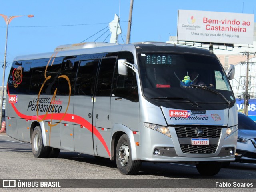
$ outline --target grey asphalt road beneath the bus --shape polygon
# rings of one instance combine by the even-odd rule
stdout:
[[[119,173],[114,161],[108,159],[96,159],[94,156],[79,154],[75,152],[60,151],[60,155],[55,159],[34,158],[31,145],[25,142],[19,142],[8,137],[6,134],[0,134],[0,179],[98,179],[99,185],[104,185],[106,179],[121,179],[130,182],[135,180],[181,180],[196,179],[197,182],[229,181],[237,179],[256,179],[256,164],[232,163],[229,168],[222,168],[216,176],[201,176],[193,164],[173,164],[173,163],[142,163],[141,171],[136,176],[125,176]],[[189,180],[184,180],[185,182]],[[250,180],[248,180],[250,181]],[[158,183],[161,184],[161,183]],[[123,191],[234,191],[232,188],[122,188]],[[132,185],[132,184],[131,184]],[[10,191],[5,189],[6,191]],[[45,191],[50,189],[12,189],[24,191]],[[54,189],[61,190],[61,189]],[[65,191],[73,191],[72,188],[66,188]],[[117,191],[117,188],[80,188],[78,191]],[[244,188],[243,191],[254,191],[252,188]]]

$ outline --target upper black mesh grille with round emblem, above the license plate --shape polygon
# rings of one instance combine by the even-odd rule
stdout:
[[[204,134],[196,134],[196,130],[204,130]],[[220,138],[220,127],[176,127],[178,138]]]

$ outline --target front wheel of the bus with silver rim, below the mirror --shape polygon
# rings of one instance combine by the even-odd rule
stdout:
[[[133,161],[131,155],[130,139],[123,134],[116,145],[116,165],[123,175],[137,174],[140,170],[141,161]]]

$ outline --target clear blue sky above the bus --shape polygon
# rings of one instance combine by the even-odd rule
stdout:
[[[0,14],[14,18],[8,27],[5,83],[16,56],[52,52],[59,45],[110,41],[108,23],[120,17],[126,42],[130,0],[0,0]],[[255,0],[134,0],[130,42],[161,41],[177,35],[178,10],[255,14]],[[256,22],[254,16],[254,22]],[[92,37],[91,37],[92,36]],[[0,16],[0,86],[6,23]]]

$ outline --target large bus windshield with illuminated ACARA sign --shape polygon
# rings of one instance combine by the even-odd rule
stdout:
[[[139,53],[138,62],[145,98],[234,103],[228,78],[213,56],[150,52]]]

